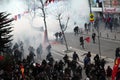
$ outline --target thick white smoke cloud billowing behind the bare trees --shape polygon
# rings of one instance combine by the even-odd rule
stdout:
[[[43,43],[44,29],[43,17],[41,17],[41,10],[36,9],[35,17],[32,11],[24,14],[29,8],[33,8],[34,0],[0,0],[0,11],[11,13],[12,18],[15,15],[20,14],[20,17],[13,21],[13,43],[23,41],[28,46],[37,46]],[[36,1],[36,0],[35,0]],[[45,0],[44,0],[45,1]],[[28,4],[30,6],[28,6]],[[40,3],[36,3],[41,5]],[[65,32],[73,32],[73,28],[78,25],[80,28],[84,28],[84,23],[89,21],[89,6],[88,0],[61,0],[50,3],[46,8],[46,20],[48,28],[49,39],[55,39],[54,34],[61,31],[57,20],[57,15],[62,13],[62,24],[66,23],[67,18],[68,27]],[[74,24],[76,23],[76,24]],[[29,45],[28,45],[29,44]]]

